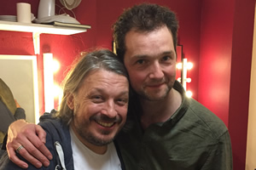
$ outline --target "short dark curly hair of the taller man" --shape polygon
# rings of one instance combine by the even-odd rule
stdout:
[[[124,13],[113,24],[113,40],[116,53],[121,59],[125,55],[125,36],[128,31],[154,31],[161,26],[167,26],[172,32],[173,44],[176,51],[178,22],[176,14],[170,8],[157,4],[142,3],[125,9]]]

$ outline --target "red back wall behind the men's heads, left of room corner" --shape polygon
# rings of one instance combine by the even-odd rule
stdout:
[[[58,0],[55,0],[61,5]],[[31,3],[32,13],[37,16],[39,0],[9,0],[4,1],[0,6],[0,14],[15,15],[16,3]],[[53,53],[54,58],[61,62],[61,70],[55,74],[55,82],[61,83],[65,77],[68,65],[73,62],[79,52],[90,48],[112,48],[112,30],[113,22],[118,18],[123,8],[131,7],[136,3],[143,3],[142,0],[132,0],[120,2],[112,1],[81,1],[78,8],[73,12],[82,24],[92,26],[88,32],[73,35],[48,35],[41,34],[41,54],[38,54],[38,82],[39,89],[44,88],[43,79],[43,53]],[[200,22],[201,18],[201,0],[196,1],[164,1],[151,0],[150,3],[160,3],[172,8],[177,13],[180,23],[178,43],[183,45],[183,55],[194,62],[195,67],[189,72],[192,82],[188,89],[193,91],[193,97],[197,99],[197,80],[198,80],[198,61],[199,61],[199,40],[200,40]],[[108,7],[108,8],[106,8]],[[55,8],[58,13],[59,7]],[[69,13],[71,14],[71,13]],[[72,14],[71,14],[72,15]],[[1,54],[33,54],[32,33],[0,31],[0,53]],[[44,112],[44,91],[39,94],[40,113]]]

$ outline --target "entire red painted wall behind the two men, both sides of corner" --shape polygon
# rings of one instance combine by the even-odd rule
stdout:
[[[58,0],[55,0],[60,4]],[[14,14],[15,3],[32,4],[37,15],[39,0],[3,1],[0,14]],[[40,113],[44,112],[44,80],[42,54],[53,53],[61,62],[55,75],[60,83],[65,71],[79,54],[90,48],[112,48],[111,26],[123,8],[143,0],[81,1],[73,9],[82,24],[92,29],[73,36],[41,35],[38,54]],[[180,29],[178,43],[183,55],[194,63],[188,76],[188,89],[193,97],[206,105],[229,127],[234,153],[234,169],[245,167],[247,106],[252,56],[253,12],[255,0],[148,0],[172,8],[177,13]],[[58,12],[58,8],[56,8]],[[33,54],[32,33],[0,31],[0,54]],[[241,87],[242,83],[242,87]],[[240,144],[240,145],[239,145]]]

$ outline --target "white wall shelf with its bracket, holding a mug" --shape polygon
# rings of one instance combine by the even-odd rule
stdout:
[[[73,35],[87,31],[84,28],[50,26],[44,24],[26,24],[20,22],[0,20],[0,30],[2,31],[23,31],[32,32],[35,54],[40,53],[40,34],[58,34],[58,35]]]

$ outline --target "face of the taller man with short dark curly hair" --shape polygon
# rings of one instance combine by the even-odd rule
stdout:
[[[142,99],[165,99],[176,78],[172,32],[166,26],[154,31],[129,31],[125,36],[125,67],[131,87]]]

